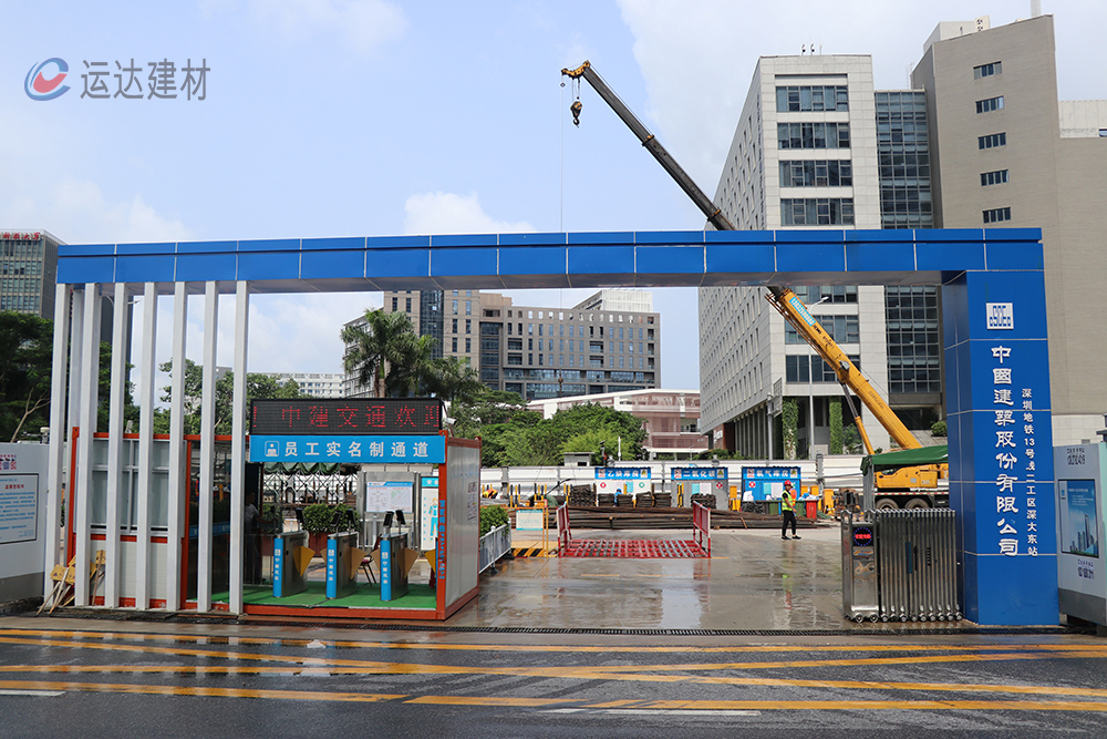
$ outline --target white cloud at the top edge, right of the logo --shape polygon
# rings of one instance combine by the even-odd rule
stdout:
[[[403,9],[385,0],[252,0],[250,11],[289,39],[332,35],[360,53],[375,51],[407,28]]]

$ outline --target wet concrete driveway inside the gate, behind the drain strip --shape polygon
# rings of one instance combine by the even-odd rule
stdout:
[[[573,532],[575,538],[690,538],[683,530]],[[447,624],[473,627],[828,629],[841,614],[839,528],[713,531],[710,560],[525,557],[480,578]]]

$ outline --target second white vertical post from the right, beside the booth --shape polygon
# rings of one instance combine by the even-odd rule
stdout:
[[[215,487],[215,372],[219,286],[204,286],[204,380],[200,391],[199,536],[196,546],[196,608],[211,610],[211,495]],[[182,358],[184,369],[184,358]]]

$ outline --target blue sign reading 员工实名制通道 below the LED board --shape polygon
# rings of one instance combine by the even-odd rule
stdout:
[[[362,464],[441,464],[444,437],[251,435],[251,462],[342,462]]]

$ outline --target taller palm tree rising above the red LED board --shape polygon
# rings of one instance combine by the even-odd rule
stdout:
[[[421,349],[417,345],[425,343],[415,336],[406,315],[385,312],[383,308],[366,310],[365,324],[346,326],[341,336],[350,347],[346,372],[356,372],[358,383],[372,388],[376,398],[399,394],[399,389],[408,384],[406,377],[415,371],[411,362]]]

